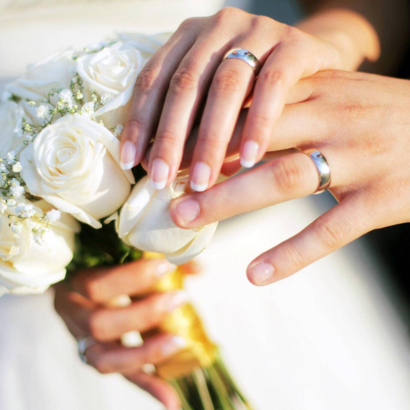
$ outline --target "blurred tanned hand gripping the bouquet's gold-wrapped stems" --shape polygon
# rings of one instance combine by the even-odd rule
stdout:
[[[154,328],[176,307],[187,301],[184,291],[147,294],[175,266],[166,260],[138,260],[110,268],[86,269],[72,279],[73,290],[64,283],[55,286],[55,308],[78,339],[93,336],[96,344],[85,351],[88,363],[101,373],[119,372],[146,390],[167,409],[181,407],[178,394],[165,380],[142,370],[146,363],[159,364],[183,346],[183,339],[158,334],[140,347],[126,348],[119,339],[130,330]],[[193,269],[192,264],[185,269]],[[126,307],[109,307],[118,295],[138,296]]]

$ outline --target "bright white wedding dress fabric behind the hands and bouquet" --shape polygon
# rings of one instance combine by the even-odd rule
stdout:
[[[116,31],[174,30],[219,7],[218,0],[0,0],[0,91],[56,50]],[[325,202],[302,198],[221,223],[188,290],[255,409],[407,410],[408,334],[385,292],[385,268],[363,241],[275,285],[246,280],[253,257],[301,230]],[[1,410],[161,408],[121,376],[80,362],[51,291],[0,299]]]

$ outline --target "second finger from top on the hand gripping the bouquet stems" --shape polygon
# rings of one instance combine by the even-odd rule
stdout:
[[[143,332],[161,323],[167,314],[187,303],[183,290],[149,296],[126,307],[100,308],[88,318],[89,334],[96,340],[108,342],[130,330]]]

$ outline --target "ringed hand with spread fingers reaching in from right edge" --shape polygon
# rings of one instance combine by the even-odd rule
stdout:
[[[410,221],[410,81],[328,71],[301,80],[288,102],[270,149],[319,150],[339,204],[255,258],[247,269],[255,285],[286,278],[372,229]],[[312,160],[292,153],[174,200],[171,216],[182,228],[196,228],[317,186]]]

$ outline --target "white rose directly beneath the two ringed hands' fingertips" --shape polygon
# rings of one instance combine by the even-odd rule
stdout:
[[[171,200],[182,195],[188,177],[156,191],[148,177],[142,178],[121,208],[118,236],[142,251],[163,253],[175,264],[182,264],[203,251],[214,235],[217,222],[198,229],[182,229],[169,214]]]

